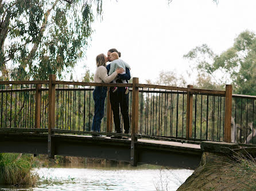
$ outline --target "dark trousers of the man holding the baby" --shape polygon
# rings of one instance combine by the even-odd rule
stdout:
[[[120,126],[120,112],[119,106],[121,108],[121,113],[123,116],[123,124],[125,128],[125,133],[129,133],[129,94],[125,94],[125,87],[118,87],[118,90],[113,93],[112,88],[110,88],[110,103],[114,115],[115,132],[122,133]]]

